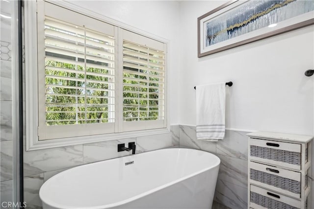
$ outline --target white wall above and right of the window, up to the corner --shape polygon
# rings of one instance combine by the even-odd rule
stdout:
[[[178,38],[180,7],[179,1],[113,1],[113,0],[67,0],[94,13],[101,14],[141,31],[154,34],[168,43],[168,93],[169,123],[178,124],[179,85]]]

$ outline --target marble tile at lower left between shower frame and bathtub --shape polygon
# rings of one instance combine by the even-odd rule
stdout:
[[[24,201],[27,209],[41,209],[39,189],[44,184],[44,174],[24,177]]]

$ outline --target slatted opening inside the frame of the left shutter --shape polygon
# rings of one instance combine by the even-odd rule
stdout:
[[[45,18],[46,125],[114,122],[114,39]]]

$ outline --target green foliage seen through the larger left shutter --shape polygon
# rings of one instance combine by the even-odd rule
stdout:
[[[49,67],[58,67],[60,70],[51,70]],[[99,75],[86,73],[85,82],[82,66],[46,61],[47,125],[108,122],[108,84],[97,82],[108,82],[105,76],[108,70],[87,67],[86,72]]]

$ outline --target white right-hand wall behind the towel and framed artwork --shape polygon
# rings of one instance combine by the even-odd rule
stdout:
[[[196,124],[195,85],[233,81],[226,127],[313,135],[314,27],[197,58],[197,18],[224,2],[181,2],[179,123]]]

